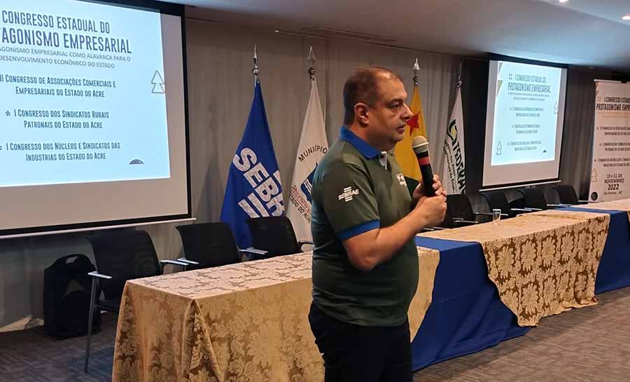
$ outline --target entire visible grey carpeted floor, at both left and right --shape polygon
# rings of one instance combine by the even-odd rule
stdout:
[[[630,288],[599,299],[496,348],[417,371],[414,382],[630,381]],[[43,327],[0,333],[0,382],[109,382],[115,337],[116,316],[105,314],[83,374],[85,337],[56,341]]]

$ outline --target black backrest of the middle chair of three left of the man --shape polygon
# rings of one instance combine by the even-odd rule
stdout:
[[[188,269],[235,264],[241,261],[232,229],[223,221],[176,226],[186,259],[197,261]]]

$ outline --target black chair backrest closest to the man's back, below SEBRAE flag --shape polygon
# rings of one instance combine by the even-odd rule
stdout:
[[[293,225],[286,216],[247,219],[253,247],[268,252],[267,257],[300,252]]]

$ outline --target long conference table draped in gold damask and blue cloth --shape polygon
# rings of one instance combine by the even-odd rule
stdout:
[[[421,369],[526,334],[630,285],[630,200],[416,236],[409,308]],[[311,253],[130,280],[112,381],[323,381]]]

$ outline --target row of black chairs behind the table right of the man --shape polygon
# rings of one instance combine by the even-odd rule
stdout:
[[[547,203],[545,193],[535,188],[448,195],[444,221],[435,228],[456,228],[490,221],[492,210],[500,210],[501,218],[507,219],[517,214],[587,203],[578,200],[573,186],[561,184],[552,186],[552,189],[556,191],[560,204]]]

